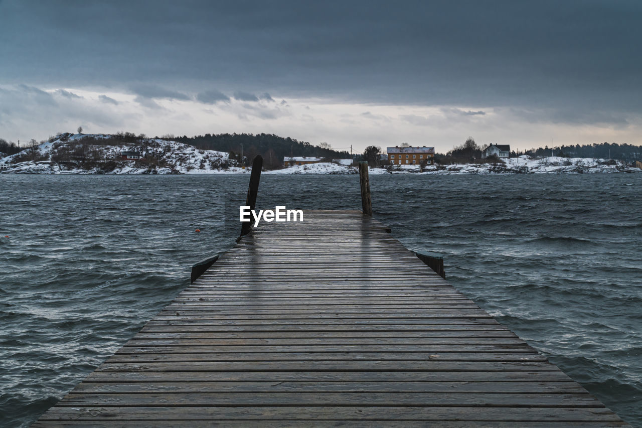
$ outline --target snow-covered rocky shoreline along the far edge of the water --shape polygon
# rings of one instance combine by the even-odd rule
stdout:
[[[61,134],[11,156],[0,158],[0,174],[247,174],[226,152],[200,150],[164,139],[138,139],[132,143],[110,144],[114,136]],[[104,141],[104,143],[102,143]],[[78,150],[81,147],[82,150]],[[145,159],[121,159],[121,152],[135,149]],[[370,174],[595,174],[636,173],[641,169],[622,161],[580,157],[519,156],[497,163],[397,165],[370,168]],[[270,175],[358,174],[356,166],[338,163],[312,163],[281,170]]]

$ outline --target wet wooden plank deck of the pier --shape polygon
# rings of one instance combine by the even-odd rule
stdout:
[[[386,229],[253,228],[32,426],[628,426]]]

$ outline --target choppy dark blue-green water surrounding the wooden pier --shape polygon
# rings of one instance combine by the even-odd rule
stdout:
[[[395,237],[642,427],[642,174],[370,180]],[[231,247],[247,181],[0,175],[0,425],[33,422]],[[356,176],[265,175],[258,205],[359,198]]]

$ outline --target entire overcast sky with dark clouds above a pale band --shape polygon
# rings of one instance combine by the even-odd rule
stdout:
[[[641,22],[637,0],[0,0],[0,138],[639,145]]]

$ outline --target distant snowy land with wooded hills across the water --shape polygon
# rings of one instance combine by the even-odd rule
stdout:
[[[245,144],[240,141],[245,141]],[[333,150],[325,143],[313,146],[310,143],[271,134],[206,134],[193,138],[147,138],[129,132],[65,132],[42,143],[32,140],[28,147],[18,148],[4,140],[0,143],[3,143],[0,148],[14,152],[9,154],[0,151],[0,174],[245,174],[249,170],[247,165],[256,154],[262,154],[264,157],[265,174],[358,173],[356,166],[350,165],[354,157],[349,152]],[[213,147],[221,146],[228,151],[213,150]],[[237,148],[236,151],[232,150],[234,147]],[[636,148],[627,145],[628,147]],[[538,150],[542,152],[542,149]],[[476,146],[472,138],[446,155],[435,155],[432,165],[386,165],[386,157],[382,157],[380,151],[377,147],[369,147],[363,155],[359,155],[360,159],[367,159],[372,165],[370,174],[642,172],[642,164],[639,161],[636,165],[635,162],[627,163],[620,159],[599,157],[536,157],[513,154],[513,157],[502,159],[474,160],[481,148]],[[284,152],[295,152],[304,156],[282,156]],[[470,156],[470,161],[466,161],[467,156]],[[284,168],[284,163],[292,165],[293,159],[303,159],[304,162],[299,162],[303,165]]]

